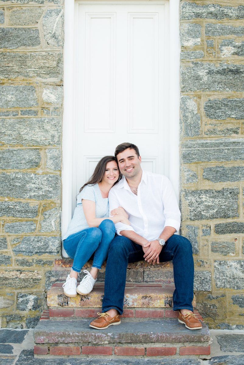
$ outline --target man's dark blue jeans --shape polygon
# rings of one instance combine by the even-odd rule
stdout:
[[[119,314],[123,313],[127,265],[129,262],[145,260],[143,255],[142,247],[129,238],[116,236],[113,239],[106,264],[103,312],[114,308]],[[173,261],[174,311],[180,309],[192,311],[194,262],[190,241],[176,234],[171,236],[163,246],[159,260],[160,262]]]

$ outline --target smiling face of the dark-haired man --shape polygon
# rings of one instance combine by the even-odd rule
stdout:
[[[141,156],[137,156],[134,149],[127,148],[117,154],[119,170],[126,178],[137,176],[141,173]]]

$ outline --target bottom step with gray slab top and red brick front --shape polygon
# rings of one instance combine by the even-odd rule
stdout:
[[[90,320],[41,320],[34,329],[35,356],[183,356],[210,355],[210,334],[188,330],[177,319],[127,322],[105,330],[89,327]]]

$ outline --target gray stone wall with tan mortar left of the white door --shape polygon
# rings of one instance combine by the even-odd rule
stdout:
[[[63,13],[62,0],[0,1],[2,327],[35,326],[60,255]]]

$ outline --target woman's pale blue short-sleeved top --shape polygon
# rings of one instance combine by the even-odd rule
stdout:
[[[88,228],[87,220],[83,212],[82,199],[95,201],[96,218],[107,218],[109,215],[108,198],[103,198],[98,184],[86,185],[77,195],[77,203],[73,218],[69,223],[68,231],[62,237],[62,240],[69,237],[71,234],[82,231]]]

